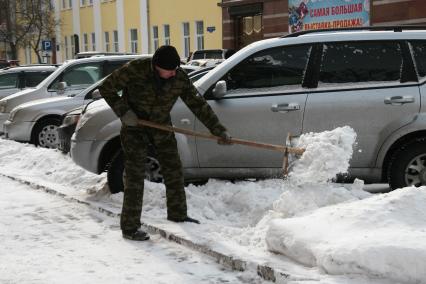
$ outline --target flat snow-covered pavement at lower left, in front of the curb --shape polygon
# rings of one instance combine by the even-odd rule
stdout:
[[[118,220],[0,177],[0,283],[261,283],[168,242],[121,237]]]

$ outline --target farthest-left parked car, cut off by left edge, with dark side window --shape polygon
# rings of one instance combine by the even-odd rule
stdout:
[[[36,87],[56,69],[56,65],[26,65],[1,69],[0,99]]]

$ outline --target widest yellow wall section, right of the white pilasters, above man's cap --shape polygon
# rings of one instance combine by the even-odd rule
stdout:
[[[170,41],[183,56],[183,22],[189,22],[190,51],[195,50],[195,21],[204,22],[204,48],[222,48],[222,8],[218,0],[149,0],[150,48],[152,27],[158,26],[159,45],[164,44],[163,25],[170,25]],[[212,33],[207,27],[215,27]]]

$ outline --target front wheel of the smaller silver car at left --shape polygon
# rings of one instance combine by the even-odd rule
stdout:
[[[58,127],[60,125],[59,118],[48,118],[37,122],[32,133],[32,143],[43,148],[58,148]]]

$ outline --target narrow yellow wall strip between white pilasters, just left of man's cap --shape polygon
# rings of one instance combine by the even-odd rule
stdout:
[[[124,47],[126,52],[131,52],[130,29],[138,30],[138,52],[142,50],[141,15],[139,0],[125,0],[124,2]]]

